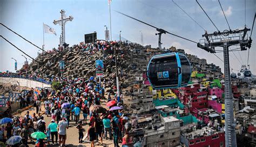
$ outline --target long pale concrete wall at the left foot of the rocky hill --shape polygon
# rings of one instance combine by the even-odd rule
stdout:
[[[42,82],[37,82],[35,80],[23,79],[23,78],[8,78],[8,77],[0,77],[0,83],[10,83],[12,85],[16,84],[18,86],[25,87],[51,87],[50,84],[45,84]]]

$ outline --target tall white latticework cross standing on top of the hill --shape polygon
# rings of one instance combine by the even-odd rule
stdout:
[[[65,10],[60,10],[60,14],[61,15],[59,20],[54,20],[53,24],[55,25],[59,24],[60,26],[62,26],[62,34],[60,35],[60,46],[63,47],[63,44],[65,42],[65,24],[66,24],[66,21],[72,21],[73,17],[72,16],[66,17]]]

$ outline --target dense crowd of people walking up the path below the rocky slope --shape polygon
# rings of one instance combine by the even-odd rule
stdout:
[[[25,116],[14,116],[12,122],[2,125],[0,141],[5,142],[11,136],[20,135],[23,139],[20,144],[27,146],[28,142],[36,146],[66,145],[66,130],[73,121],[78,130],[78,143],[90,141],[91,146],[95,142],[103,144],[103,138],[113,140],[114,146],[130,146],[133,141],[129,136],[131,128],[137,123],[135,118],[129,121],[129,116],[123,111],[123,94],[117,99],[117,94],[110,90],[105,94],[102,86],[95,82],[94,77],[89,80],[78,78],[58,78],[62,86],[58,90],[41,90],[41,93],[32,97],[28,93],[21,97],[21,107],[33,105],[36,112]],[[111,94],[114,94],[112,97]],[[105,96],[106,95],[106,96]],[[109,106],[103,106],[102,101],[111,102]],[[118,109],[110,111],[112,107]],[[80,117],[80,114],[82,117]],[[46,124],[45,117],[51,117],[51,122]],[[85,126],[88,125],[87,129]],[[31,134],[41,131],[47,139],[34,140]]]

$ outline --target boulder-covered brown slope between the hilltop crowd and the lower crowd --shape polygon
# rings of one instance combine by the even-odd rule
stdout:
[[[127,87],[132,83],[131,80],[137,73],[142,73],[143,69],[140,68],[142,65],[140,62],[133,60],[133,52],[131,50],[146,50],[145,47],[140,46],[136,43],[123,43],[122,48],[117,50],[117,62],[118,72],[120,77],[120,84],[122,87]],[[136,53],[135,53],[136,54]],[[146,56],[146,54],[145,54]],[[61,52],[53,50],[50,54],[41,54],[36,60],[42,63],[33,61],[29,65],[28,74],[50,78],[60,76],[59,61],[65,61],[65,71],[63,72],[64,77],[73,78],[89,78],[95,76],[96,60],[104,61],[104,78],[105,82],[109,85],[116,83],[116,66],[113,49],[106,50],[91,50],[84,51],[83,49],[66,48]],[[24,68],[19,72],[25,73]],[[107,85],[106,85],[107,86]]]

